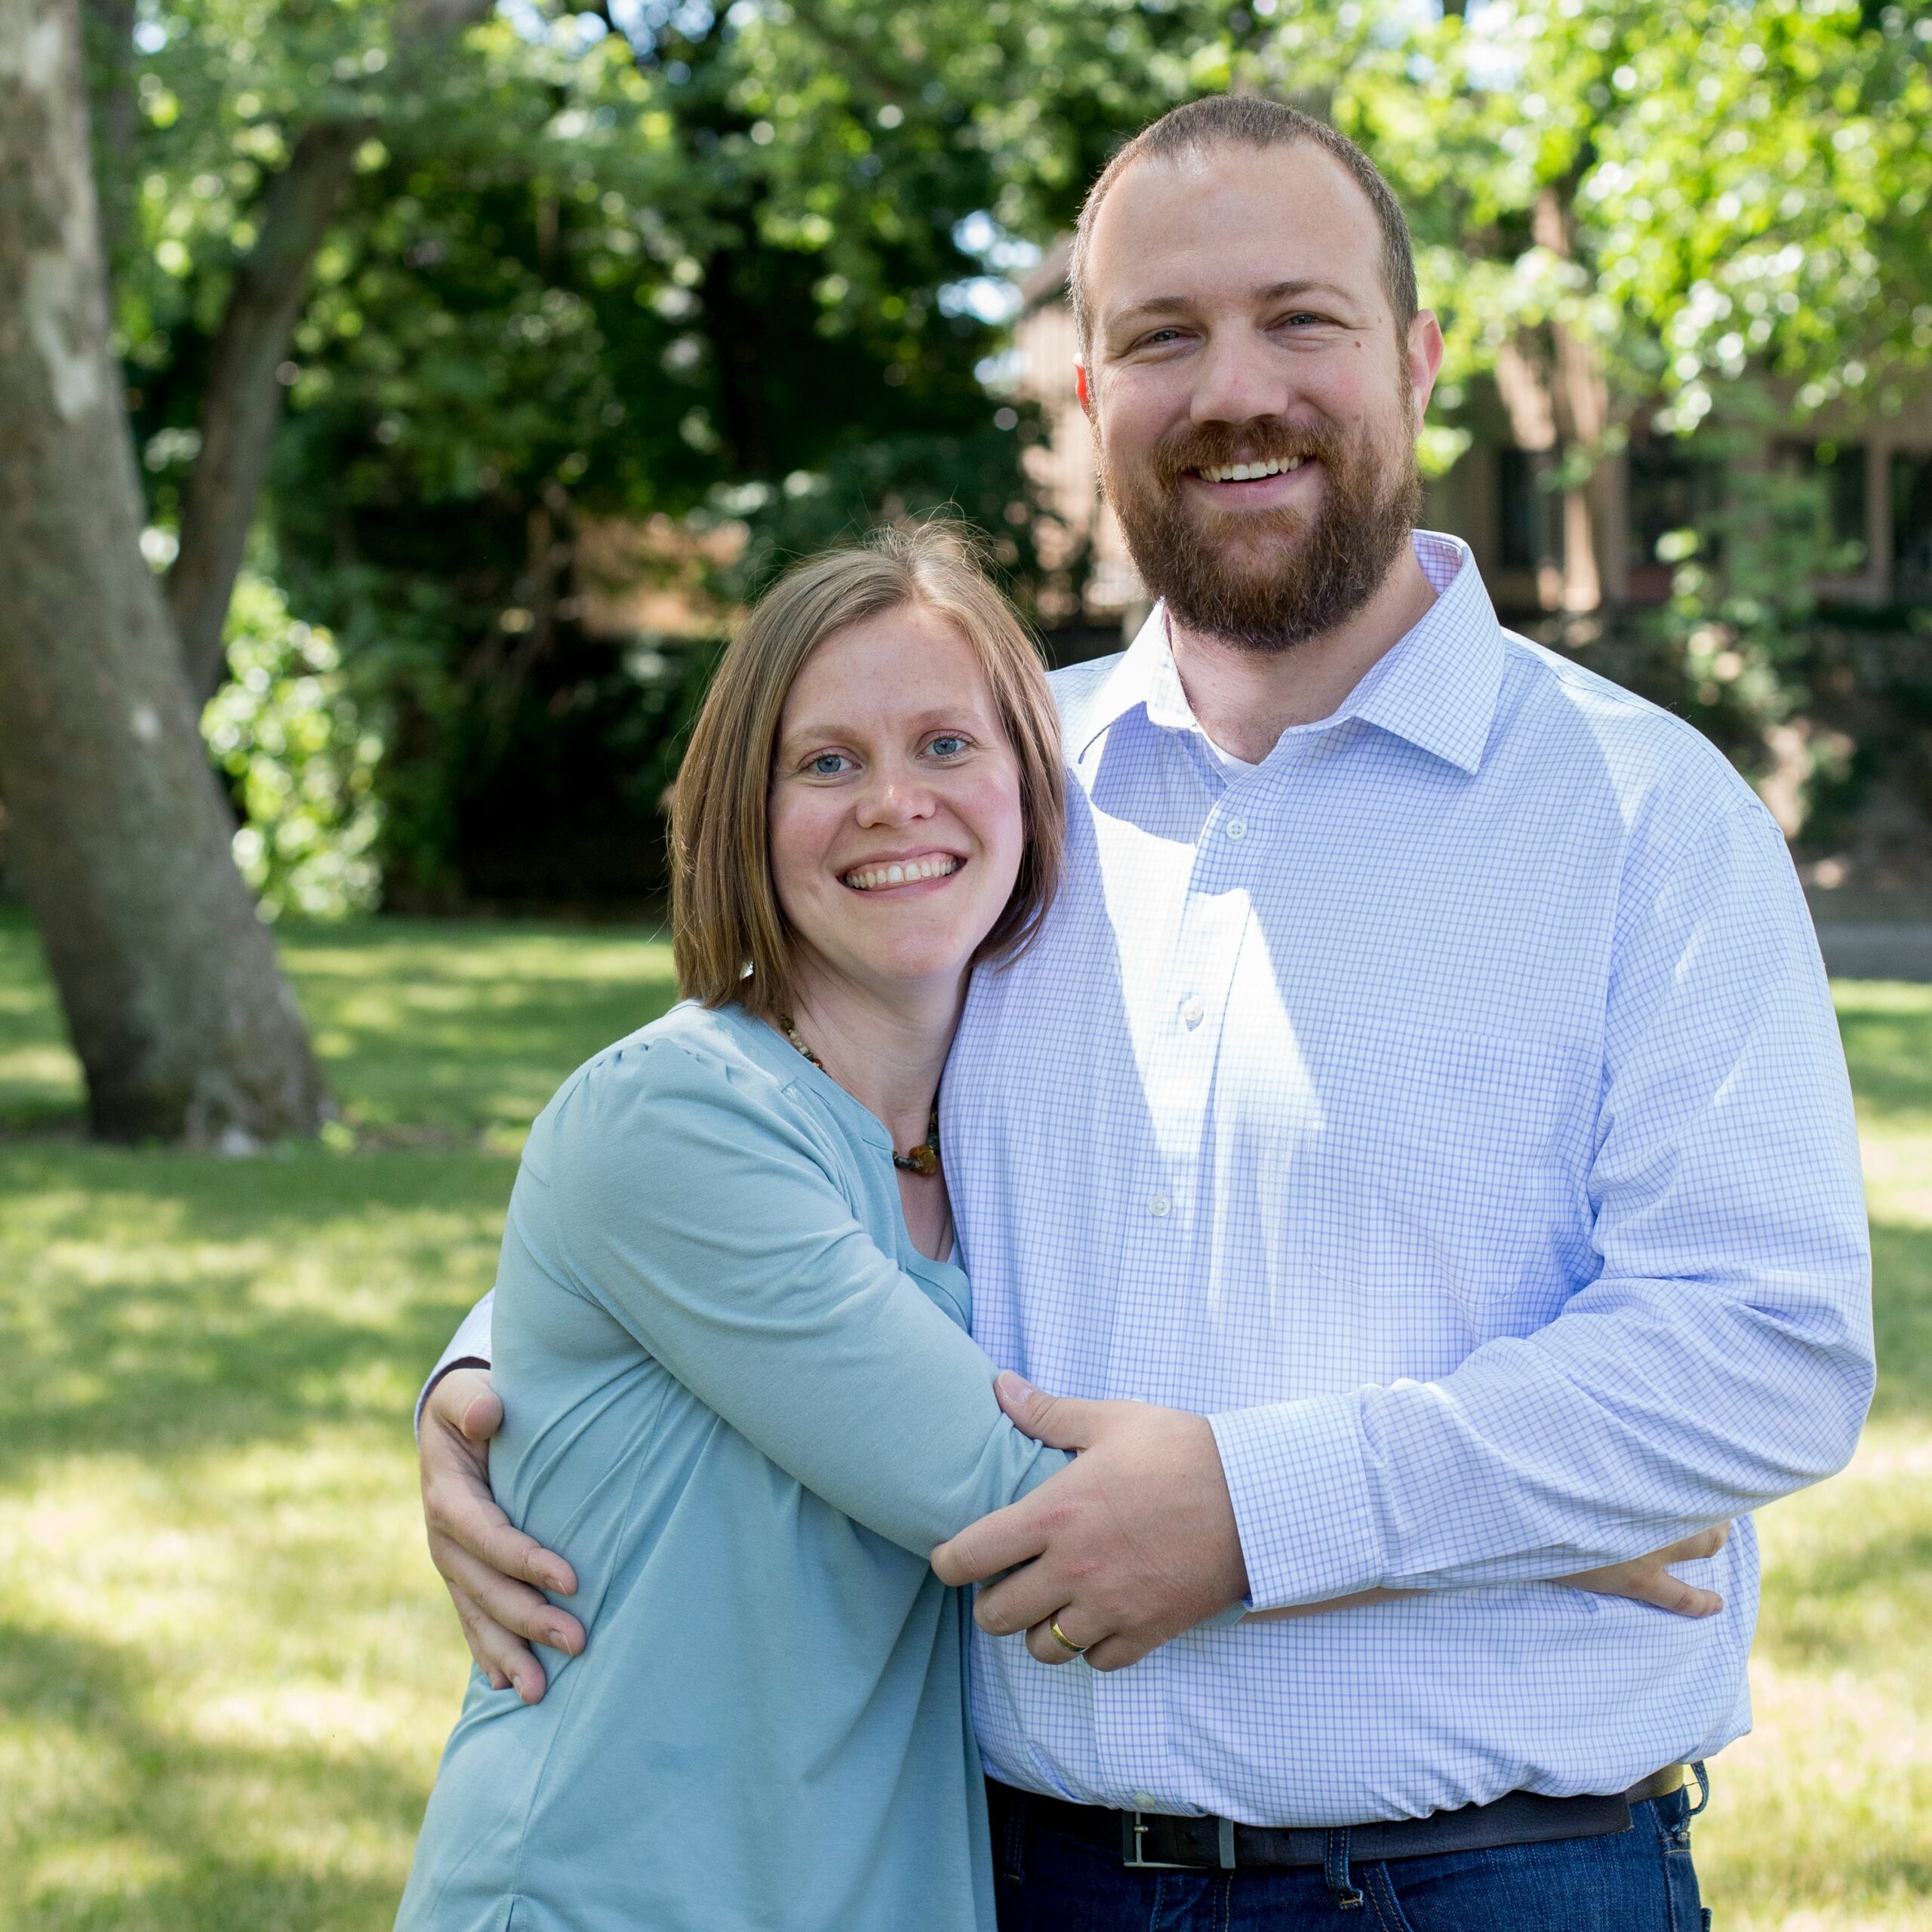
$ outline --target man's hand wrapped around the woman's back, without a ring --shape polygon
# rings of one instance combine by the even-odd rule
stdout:
[[[429,1559],[442,1571],[469,1654],[497,1690],[516,1685],[526,1704],[547,1679],[529,1644],[576,1656],[583,1625],[541,1592],[578,1594],[576,1571],[518,1530],[489,1488],[489,1439],[502,1428],[502,1403],[481,1368],[452,1368],[423,1405],[417,1463]],[[533,1588],[535,1586],[535,1588]]]

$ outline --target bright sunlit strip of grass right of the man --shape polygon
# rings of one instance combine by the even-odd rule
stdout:
[[[1872,1208],[1878,1401],[1758,1519],[1756,1731],[1712,1768],[1704,1895],[1745,1932],[1932,1932],[1932,987],[1835,987]]]

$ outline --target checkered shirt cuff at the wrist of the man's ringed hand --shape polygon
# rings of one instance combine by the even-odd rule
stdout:
[[[1352,1393],[1209,1416],[1248,1604],[1287,1609],[1374,1590],[1385,1569]]]

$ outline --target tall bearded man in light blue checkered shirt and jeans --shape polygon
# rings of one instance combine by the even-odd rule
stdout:
[[[1169,114],[1088,197],[1072,294],[1161,605],[1059,678],[1068,883],[945,1086],[974,1333],[1084,1451],[935,1553],[1001,1578],[1001,1922],[1692,1926],[1683,1764],[1748,1725],[1748,1522],[1704,1621],[1548,1578],[1857,1439],[1857,1146],[1783,844],[1412,529],[1441,332],[1354,147]],[[570,1580],[460,1478],[466,1418],[452,1378],[433,1548],[508,1675],[518,1631],[582,1638],[491,1573]],[[1202,1627],[1362,1590],[1414,1594]]]

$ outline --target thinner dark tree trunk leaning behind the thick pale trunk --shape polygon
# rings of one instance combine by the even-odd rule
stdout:
[[[276,371],[301,315],[309,267],[355,166],[367,122],[303,128],[263,205],[261,234],[236,270],[201,396],[201,454],[182,493],[182,549],[168,609],[197,703],[222,682],[222,628],[269,475],[284,384]]]

